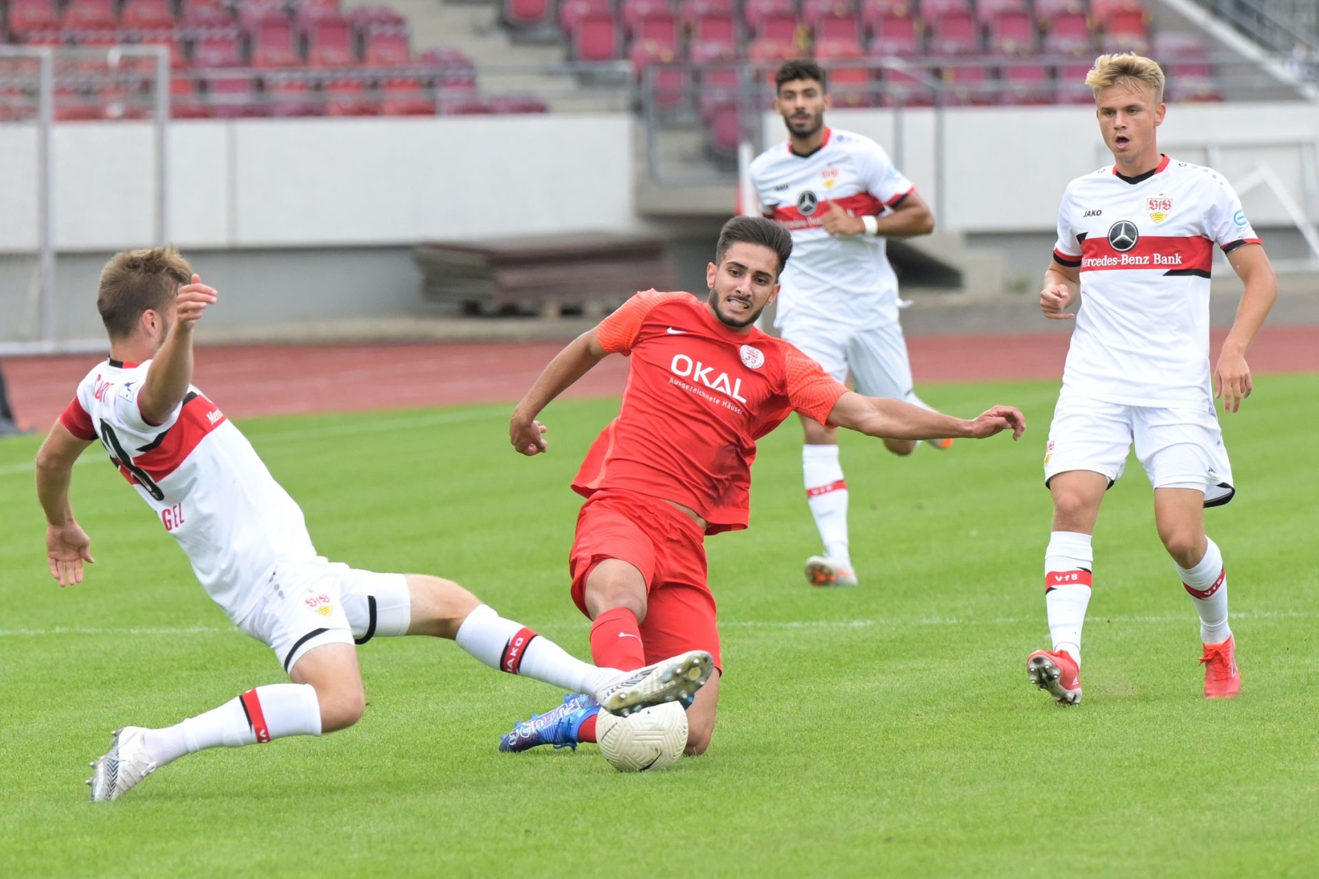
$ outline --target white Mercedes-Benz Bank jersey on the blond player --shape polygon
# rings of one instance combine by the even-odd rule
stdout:
[[[1212,406],[1213,245],[1258,244],[1216,171],[1166,156],[1138,178],[1101,167],[1067,184],[1054,260],[1080,269],[1063,394],[1126,406]]]

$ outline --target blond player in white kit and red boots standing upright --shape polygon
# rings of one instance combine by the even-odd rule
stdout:
[[[1045,453],[1053,535],[1045,601],[1053,650],[1026,660],[1030,681],[1062,704],[1080,701],[1080,631],[1093,572],[1091,534],[1104,492],[1136,457],[1154,486],[1159,538],[1200,617],[1204,695],[1241,689],[1228,627],[1223,553],[1204,507],[1235,493],[1213,410],[1250,395],[1245,351],[1278,295],[1277,279],[1236,192],[1208,167],[1162,156],[1163,71],[1140,55],[1100,55],[1086,76],[1113,165],[1067,184],[1039,307],[1072,318]],[[1210,374],[1210,271],[1219,245],[1245,285],[1236,323]]]

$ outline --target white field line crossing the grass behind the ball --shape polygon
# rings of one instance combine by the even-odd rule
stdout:
[[[1319,614],[1303,613],[1298,610],[1246,610],[1235,613],[1232,619],[1312,619]],[[1091,622],[1103,619],[1104,622],[1125,623],[1167,623],[1186,622],[1188,614],[1158,614],[1158,615],[1096,615]],[[882,619],[735,619],[725,621],[721,627],[728,629],[760,629],[760,630],[840,630],[840,629],[871,629],[884,626],[890,629],[905,629],[918,626],[1018,626],[1043,621],[1043,614],[1031,617],[993,617],[976,619],[972,617],[914,617],[914,618],[882,618]],[[586,619],[576,622],[554,622],[538,629],[571,630],[580,629]],[[106,637],[137,637],[137,635],[241,635],[236,626],[51,626],[49,629],[0,629],[0,638],[47,638],[53,635],[106,635]]]

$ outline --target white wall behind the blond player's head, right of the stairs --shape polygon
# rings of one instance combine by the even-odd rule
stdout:
[[[950,108],[943,111],[943,156],[933,109],[849,109],[828,123],[885,145],[926,200],[942,207],[940,225],[966,232],[1031,232],[1054,227],[1063,187],[1112,162],[1088,107]],[[783,140],[783,121],[765,117],[768,144]],[[1170,107],[1159,146],[1179,159],[1210,163],[1240,181],[1268,163],[1311,219],[1319,219],[1314,144],[1319,107],[1190,104]],[[1304,144],[1303,150],[1299,145]],[[1213,156],[1210,156],[1210,150]],[[940,198],[942,190],[942,198]],[[1241,198],[1256,227],[1286,225],[1266,188]]]

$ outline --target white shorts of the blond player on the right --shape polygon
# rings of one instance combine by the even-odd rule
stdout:
[[[1232,499],[1232,465],[1212,403],[1199,409],[1125,406],[1087,397],[1058,398],[1045,451],[1045,485],[1058,473],[1091,470],[1112,485],[1136,459],[1155,489],[1204,492],[1204,506]]]

